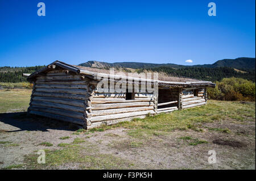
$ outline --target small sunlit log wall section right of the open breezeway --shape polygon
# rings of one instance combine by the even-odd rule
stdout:
[[[185,89],[181,93],[181,109],[203,106],[207,102],[207,94],[205,88]]]

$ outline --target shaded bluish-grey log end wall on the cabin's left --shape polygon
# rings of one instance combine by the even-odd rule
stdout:
[[[67,70],[51,70],[34,82],[28,113],[84,125],[88,79]],[[95,83],[95,82],[94,82]]]

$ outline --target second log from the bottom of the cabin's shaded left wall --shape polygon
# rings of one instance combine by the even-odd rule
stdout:
[[[53,113],[55,115],[67,116],[75,119],[81,119],[81,120],[84,119],[84,114],[79,112],[64,111],[64,110],[59,110],[55,108],[41,107],[41,106],[30,106],[30,110]]]

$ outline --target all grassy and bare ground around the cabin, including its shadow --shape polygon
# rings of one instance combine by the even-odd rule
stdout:
[[[59,121],[10,113],[26,111],[30,94],[0,90],[2,169],[255,169],[255,102],[209,100],[202,107],[73,131]],[[45,164],[36,162],[40,149]],[[216,150],[215,164],[208,163],[209,150]]]

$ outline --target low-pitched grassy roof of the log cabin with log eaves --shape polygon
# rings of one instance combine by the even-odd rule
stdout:
[[[106,69],[97,69],[97,68],[89,68],[84,66],[77,66],[77,65],[70,65],[66,64],[65,62],[61,61],[55,61],[51,64],[47,65],[46,67],[35,71],[30,76],[28,76],[28,81],[31,79],[39,76],[42,73],[46,73],[49,70],[52,70],[55,68],[55,66],[59,66],[60,68],[67,69],[69,71],[73,71],[77,74],[84,74],[87,75],[87,77],[97,80],[97,77],[108,77],[108,78],[120,78],[120,75],[110,74],[109,70]],[[133,78],[133,79],[139,79],[139,76],[137,74],[130,75],[127,72],[124,71],[118,71],[122,72],[123,76],[125,78]],[[158,73],[158,80],[152,80],[152,79],[140,79],[140,80],[150,80],[150,81],[157,81],[159,86],[167,86],[167,87],[174,87],[174,86],[180,86],[180,87],[195,87],[195,86],[210,86],[215,87],[215,84],[210,81],[201,81],[198,79],[193,78],[185,78],[185,77],[170,77],[167,74],[164,73]]]

